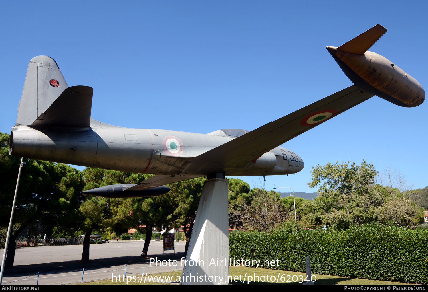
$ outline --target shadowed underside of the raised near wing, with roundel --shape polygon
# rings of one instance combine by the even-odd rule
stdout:
[[[223,172],[243,162],[255,162],[263,153],[318,126],[332,117],[374,96],[352,85],[285,117],[267,123],[188,162],[204,172]]]

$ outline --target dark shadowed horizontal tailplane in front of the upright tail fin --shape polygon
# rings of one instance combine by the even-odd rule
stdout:
[[[71,86],[39,115],[33,126],[89,127],[93,89],[89,86]]]

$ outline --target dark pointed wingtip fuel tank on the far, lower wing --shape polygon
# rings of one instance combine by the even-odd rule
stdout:
[[[171,189],[166,186],[152,187],[143,190],[130,190],[136,184],[110,184],[105,187],[97,187],[92,190],[80,192],[83,195],[101,196],[106,198],[135,198],[135,197],[155,197],[168,193]]]

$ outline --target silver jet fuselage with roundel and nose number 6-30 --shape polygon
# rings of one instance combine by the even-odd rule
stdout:
[[[207,175],[187,160],[236,138],[220,130],[197,134],[125,128],[96,120],[89,128],[15,126],[11,136],[11,155],[154,175]],[[282,175],[299,172],[303,166],[296,153],[276,147],[255,161],[220,171],[229,176]]]

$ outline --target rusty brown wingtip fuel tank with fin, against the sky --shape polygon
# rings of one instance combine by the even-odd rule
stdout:
[[[385,32],[378,24],[342,46],[328,46],[327,50],[361,89],[396,105],[418,106],[425,100],[422,85],[387,58],[368,51]]]

